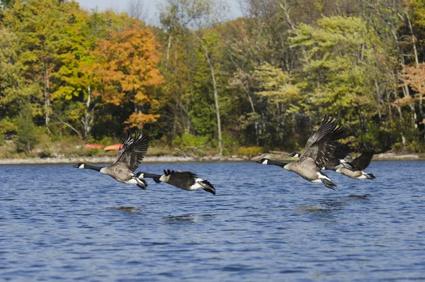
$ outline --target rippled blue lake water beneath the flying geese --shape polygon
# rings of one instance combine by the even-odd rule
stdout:
[[[217,189],[147,191],[72,165],[0,166],[1,281],[425,281],[425,162],[327,172],[142,164]]]

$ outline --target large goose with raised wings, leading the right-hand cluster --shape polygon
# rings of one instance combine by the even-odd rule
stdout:
[[[260,159],[259,164],[274,164],[283,169],[293,171],[303,179],[323,183],[327,188],[334,190],[336,184],[321,170],[336,149],[336,141],[339,140],[344,130],[333,118],[325,117],[319,129],[312,132],[310,138],[295,162],[276,162],[271,159]]]

